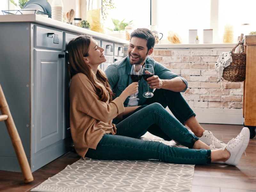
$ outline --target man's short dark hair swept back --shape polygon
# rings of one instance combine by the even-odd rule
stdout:
[[[132,37],[146,39],[148,50],[155,46],[155,42],[156,42],[155,36],[147,28],[137,28],[131,33],[131,39]]]

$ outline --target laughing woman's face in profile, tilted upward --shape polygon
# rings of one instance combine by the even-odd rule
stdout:
[[[98,45],[98,42],[91,38],[88,56],[85,57],[91,68],[97,68],[101,63],[106,61],[103,51],[104,49]]]

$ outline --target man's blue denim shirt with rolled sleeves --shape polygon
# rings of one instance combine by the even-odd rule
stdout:
[[[164,67],[159,62],[156,62],[154,59],[148,57],[146,59],[146,64],[153,65],[154,68],[154,75],[157,75],[160,79],[172,79],[175,77],[179,77],[182,81],[186,84],[186,88],[182,91],[185,92],[188,88],[188,82],[182,76],[176,75],[172,73],[169,69]],[[118,97],[124,89],[129,85],[132,84],[131,79],[131,69],[132,65],[130,64],[129,57],[126,56],[124,59],[120,61],[116,61],[112,65],[109,65],[108,68],[104,71],[108,77],[108,81],[112,91],[114,92],[115,96]],[[147,98],[143,97],[143,93],[148,91],[148,83],[143,78],[139,81],[139,94],[138,98],[140,100],[138,105],[143,105]],[[153,89],[149,87],[149,92],[152,92]],[[126,98],[124,101],[124,107],[127,107],[129,102],[129,97]]]

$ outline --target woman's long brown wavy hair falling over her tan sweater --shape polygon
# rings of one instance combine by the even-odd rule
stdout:
[[[92,72],[92,69],[84,61],[83,57],[88,56],[89,45],[91,43],[91,36],[78,36],[68,43],[68,70],[70,78],[77,73],[86,75],[95,87],[96,94],[101,101],[112,101],[113,92],[108,83],[108,78],[105,73],[98,68],[97,74]],[[107,90],[107,91],[106,91]]]

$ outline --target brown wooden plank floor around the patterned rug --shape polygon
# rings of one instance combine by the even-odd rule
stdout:
[[[205,130],[227,143],[243,128],[242,125],[202,124]],[[25,184],[21,173],[0,171],[0,191],[30,191],[48,177],[52,177],[68,164],[79,159],[74,152],[68,152],[60,158],[33,172],[34,181]],[[195,166],[192,192],[244,192],[256,191],[256,137],[250,139],[245,153],[236,167],[226,164],[203,164]]]

